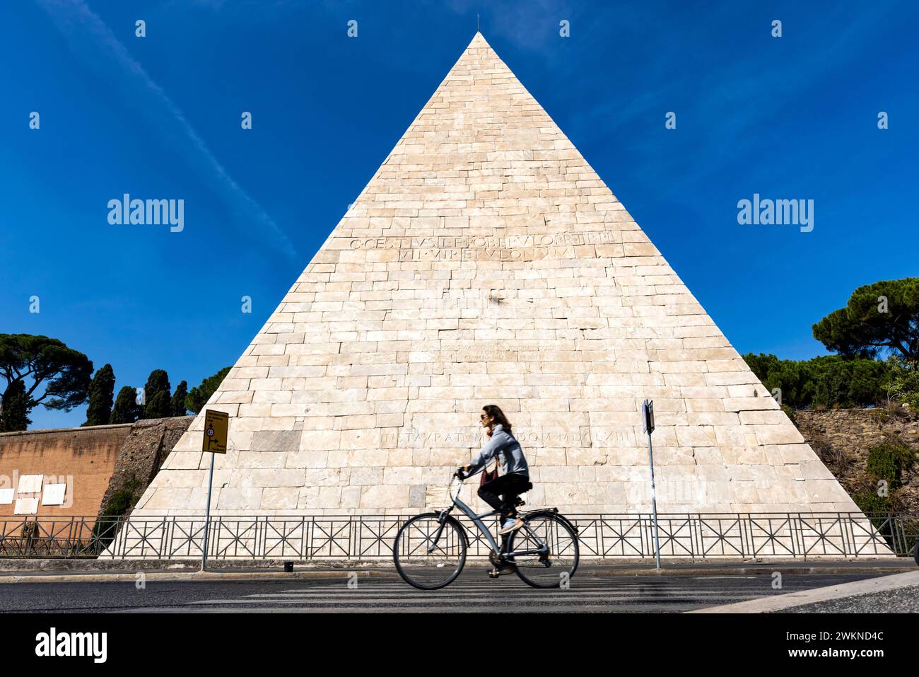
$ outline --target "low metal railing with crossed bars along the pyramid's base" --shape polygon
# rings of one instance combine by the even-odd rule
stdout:
[[[650,514],[568,514],[582,557],[653,557]],[[412,515],[225,516],[210,518],[210,559],[390,559]],[[466,522],[464,516],[459,516]],[[919,512],[686,513],[658,516],[661,556],[906,557],[919,540]],[[0,557],[201,557],[201,515],[0,519]],[[465,524],[471,527],[471,524]],[[471,557],[488,545],[468,528]]]

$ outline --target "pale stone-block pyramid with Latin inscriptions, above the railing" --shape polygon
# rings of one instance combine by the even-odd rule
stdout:
[[[527,455],[529,505],[647,512],[644,398],[658,511],[859,512],[476,34],[210,398],[231,417],[212,514],[442,507],[487,404]],[[202,429],[134,517],[203,513]]]

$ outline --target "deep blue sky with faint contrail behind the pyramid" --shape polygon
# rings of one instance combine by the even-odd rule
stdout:
[[[0,12],[0,332],[60,338],[110,362],[117,387],[157,368],[190,387],[238,358],[477,12],[741,352],[824,354],[812,323],[858,285],[917,274],[914,2],[36,0]],[[108,224],[125,192],[184,199],[185,229]],[[813,231],[737,224],[754,192],[813,200]],[[85,412],[32,419],[78,425]]]

